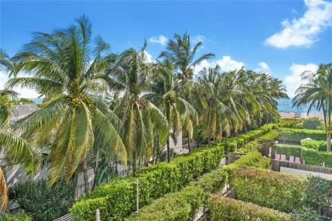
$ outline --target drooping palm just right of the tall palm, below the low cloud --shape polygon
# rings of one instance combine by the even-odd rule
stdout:
[[[223,133],[230,135],[233,127],[237,126],[237,116],[226,104],[221,101],[221,74],[219,66],[204,68],[199,76],[197,91],[203,95],[203,104],[199,105],[200,118],[203,123],[202,135],[208,138],[211,145],[211,136],[221,141]]]

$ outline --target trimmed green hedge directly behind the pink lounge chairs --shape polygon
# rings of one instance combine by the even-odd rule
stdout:
[[[300,157],[301,162],[313,166],[323,166],[323,162],[326,167],[332,168],[332,152],[315,151],[311,148],[305,148],[303,146],[295,146],[288,144],[278,144],[277,153],[284,154],[288,158],[290,155]]]

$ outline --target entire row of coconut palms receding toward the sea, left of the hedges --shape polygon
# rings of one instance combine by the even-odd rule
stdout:
[[[201,61],[214,57],[197,56],[202,44],[175,35],[158,61],[149,63],[146,42],[140,50],[111,53],[102,37],[92,38],[84,16],[51,34],[35,32],[14,57],[2,53],[0,64],[12,78],[1,99],[21,86],[37,90],[44,106],[10,127],[1,111],[1,149],[30,171],[46,150],[50,184],[82,171],[89,196],[90,151],[97,159],[95,173],[99,159],[111,163],[118,157],[122,164],[131,162],[136,175],[137,166],[157,162],[164,146],[169,161],[169,139],[176,141],[181,130],[190,144],[200,124],[210,146],[212,137],[220,141],[245,131],[252,119],[259,122],[275,110],[276,99],[287,97],[282,81],[244,68],[222,73],[216,66],[195,75]],[[30,76],[17,77],[19,71]]]

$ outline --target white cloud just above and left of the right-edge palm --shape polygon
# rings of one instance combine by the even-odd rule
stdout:
[[[287,88],[287,93],[289,97],[295,96],[295,91],[297,88],[304,84],[305,82],[301,79],[301,74],[304,73],[306,70],[316,71],[318,68],[315,64],[292,64],[291,68],[291,75],[287,75],[284,79],[284,84]]]

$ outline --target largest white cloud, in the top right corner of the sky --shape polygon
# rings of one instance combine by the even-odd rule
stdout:
[[[284,29],[266,39],[265,43],[275,48],[311,46],[318,41],[318,34],[332,26],[332,2],[304,0],[308,10],[299,19],[282,21]]]

